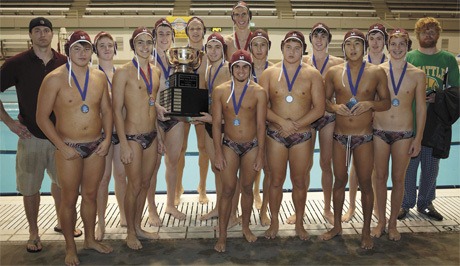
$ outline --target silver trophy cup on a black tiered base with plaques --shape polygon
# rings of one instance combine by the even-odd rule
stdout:
[[[169,88],[160,92],[160,105],[168,116],[201,116],[208,112],[208,92],[199,89],[199,75],[194,73],[201,65],[203,52],[190,47],[170,48],[166,59],[174,67],[169,76]],[[181,119],[182,120],[182,119]]]

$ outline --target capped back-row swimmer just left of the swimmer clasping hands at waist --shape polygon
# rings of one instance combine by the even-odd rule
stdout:
[[[313,25],[310,35],[310,43],[312,44],[313,55],[304,57],[304,62],[315,67],[324,78],[327,70],[335,65],[342,64],[343,59],[330,55],[328,53],[329,43],[332,39],[332,34],[329,27],[324,23],[316,23]],[[305,186],[310,186],[310,171],[313,167],[313,158],[316,142],[316,132],[319,134],[319,147],[320,147],[320,166],[321,166],[321,185],[323,188],[324,196],[324,211],[323,216],[326,221],[330,224],[334,223],[334,214],[331,211],[331,199],[332,199],[332,183],[334,181],[332,174],[332,133],[334,131],[335,115],[325,112],[322,117],[311,124],[312,128],[312,143],[310,156],[307,159],[308,171],[305,180]],[[293,214],[287,219],[288,224],[294,224],[296,221],[296,215]]]

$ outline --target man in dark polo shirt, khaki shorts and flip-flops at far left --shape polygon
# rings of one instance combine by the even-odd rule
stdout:
[[[51,48],[53,25],[43,17],[37,17],[29,23],[29,37],[32,48],[8,60],[0,68],[0,86],[4,92],[16,86],[19,103],[18,120],[13,120],[3,108],[0,100],[0,120],[19,136],[16,155],[17,190],[23,195],[24,209],[29,223],[28,252],[42,249],[38,234],[38,210],[40,206],[40,187],[44,171],[51,177],[51,194],[56,212],[61,202],[61,189],[58,186],[54,163],[55,147],[40,130],[35,120],[37,97],[45,76],[55,68],[65,64],[67,58]],[[52,116],[54,121],[54,115]],[[58,219],[56,232],[61,232]],[[75,230],[75,236],[82,234]]]

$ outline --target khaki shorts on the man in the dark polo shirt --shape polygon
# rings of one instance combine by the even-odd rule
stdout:
[[[16,189],[23,196],[40,192],[45,170],[51,182],[58,184],[54,153],[56,148],[47,139],[34,136],[18,140],[16,154]]]

